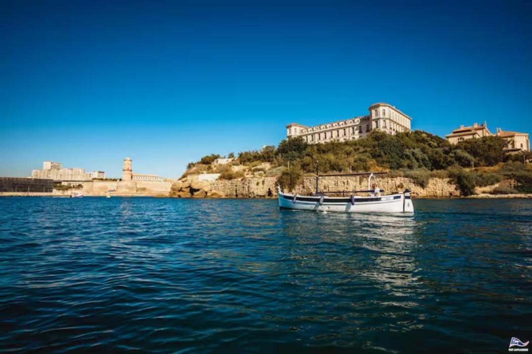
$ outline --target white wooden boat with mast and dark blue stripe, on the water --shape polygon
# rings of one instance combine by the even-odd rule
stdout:
[[[413,213],[414,205],[410,190],[394,192],[389,195],[381,194],[383,190],[371,184],[376,174],[381,173],[355,173],[316,176],[316,192],[312,196],[300,196],[285,193],[278,189],[279,207],[281,209],[312,210],[315,212],[339,212],[339,213]],[[351,176],[369,175],[367,190],[339,191],[342,197],[329,197],[318,191],[318,181],[324,176]],[[345,193],[351,193],[349,197]],[[355,196],[355,193],[368,193],[367,196]]]

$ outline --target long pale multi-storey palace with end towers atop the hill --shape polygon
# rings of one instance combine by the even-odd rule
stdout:
[[[369,106],[368,110],[368,115],[318,124],[314,127],[290,123],[286,126],[286,136],[288,138],[302,137],[309,144],[318,144],[333,140],[346,141],[364,138],[372,130],[384,131],[388,134],[412,130],[412,118],[395,106],[376,103]]]

